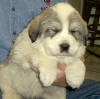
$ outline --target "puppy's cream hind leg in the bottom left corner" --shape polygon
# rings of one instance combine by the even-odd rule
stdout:
[[[21,99],[21,96],[9,86],[6,86],[2,91],[2,99]]]

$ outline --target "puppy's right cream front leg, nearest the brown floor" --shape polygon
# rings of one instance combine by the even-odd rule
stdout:
[[[75,60],[73,64],[67,66],[65,70],[67,83],[72,88],[79,88],[84,81],[85,65],[79,60]]]

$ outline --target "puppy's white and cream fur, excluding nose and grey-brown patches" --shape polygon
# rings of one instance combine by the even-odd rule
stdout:
[[[67,17],[75,9],[64,3],[55,5],[52,9],[58,13],[63,24],[61,33],[53,39],[40,38],[32,44],[28,36],[29,26],[23,30],[15,40],[6,66],[4,66],[5,62],[1,64],[0,88],[3,92],[3,99],[21,99],[21,96],[66,99],[64,88],[51,86],[56,79],[58,63],[67,65],[66,80],[71,87],[78,88],[84,81],[85,66],[79,57],[84,54],[85,47],[68,34],[68,23],[65,24]],[[69,9],[69,11],[66,13],[63,9]],[[70,44],[69,54],[60,53],[59,44],[62,42]],[[40,80],[30,69],[28,61],[38,68]],[[41,82],[43,86],[50,87],[43,87]]]

